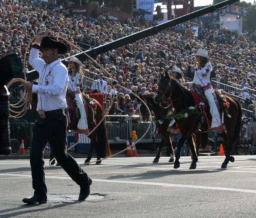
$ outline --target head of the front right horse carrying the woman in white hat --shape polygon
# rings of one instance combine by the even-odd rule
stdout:
[[[160,73],[161,79],[158,84],[157,93],[154,95],[154,102],[160,103],[162,100],[166,101],[171,96],[170,84],[172,77],[165,71],[165,74]]]

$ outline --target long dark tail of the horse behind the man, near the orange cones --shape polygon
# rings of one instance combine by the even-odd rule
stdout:
[[[97,132],[97,145],[99,147],[100,158],[107,158],[111,155],[111,149],[108,143],[107,128],[104,123],[100,123]]]

